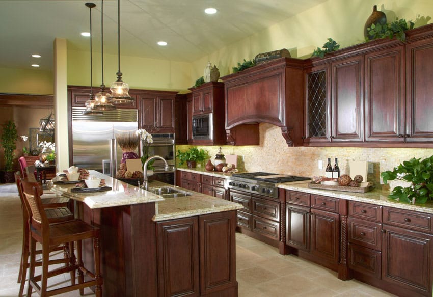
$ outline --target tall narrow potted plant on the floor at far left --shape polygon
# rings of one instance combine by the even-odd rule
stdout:
[[[0,144],[4,149],[5,155],[5,171],[4,171],[4,182],[14,182],[13,172],[13,159],[15,156],[14,150],[16,149],[16,141],[18,140],[18,133],[16,131],[15,123],[11,120],[7,121],[3,125],[2,136],[0,137]]]

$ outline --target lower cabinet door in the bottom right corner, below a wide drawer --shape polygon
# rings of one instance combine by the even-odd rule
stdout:
[[[382,279],[431,296],[433,236],[383,225]]]

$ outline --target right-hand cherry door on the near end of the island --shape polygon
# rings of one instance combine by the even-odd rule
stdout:
[[[202,296],[224,295],[218,292],[237,288],[234,232],[236,224],[236,211],[224,211],[199,217],[200,295]],[[231,295],[234,295],[234,292]]]

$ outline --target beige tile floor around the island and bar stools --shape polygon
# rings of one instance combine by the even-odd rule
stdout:
[[[17,296],[22,219],[14,184],[0,185],[0,236],[0,296]],[[393,296],[356,280],[343,282],[329,269],[296,256],[280,255],[276,248],[239,233],[236,234],[236,277],[241,297]],[[49,284],[64,284],[68,279],[69,274],[60,275],[50,279]],[[94,296],[88,289],[85,295]],[[79,293],[62,296],[79,296]]]

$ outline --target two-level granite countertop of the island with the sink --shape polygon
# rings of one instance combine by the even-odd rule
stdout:
[[[133,186],[110,176],[103,175],[97,171],[90,170],[89,172],[91,175],[105,179],[105,184],[112,187],[112,190],[96,193],[72,193],[71,189],[75,187],[75,183],[55,185],[52,182],[55,181],[56,178],[48,183],[48,187],[52,192],[84,202],[87,206],[89,206],[89,208],[156,202],[153,221],[165,221],[193,217],[195,215],[243,208],[242,205],[235,202],[215,198],[191,190],[186,190],[184,188],[169,185],[163,182],[151,181],[149,183],[150,187],[170,186],[179,188],[182,191],[192,194],[191,196],[185,197],[163,198],[159,195],[142,190],[137,186]]]

